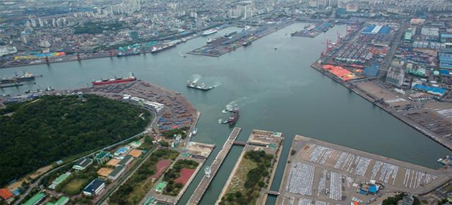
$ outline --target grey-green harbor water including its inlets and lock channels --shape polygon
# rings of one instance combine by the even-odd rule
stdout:
[[[439,168],[436,159],[451,154],[448,149],[310,68],[325,49],[321,43],[326,39],[335,42],[337,32],[345,33],[345,26],[336,25],[315,38],[290,37],[292,30],[303,27],[304,23],[295,23],[218,58],[184,53],[206,44],[208,38],[240,28],[228,27],[157,54],[4,68],[0,69],[1,77],[21,74],[24,70],[42,77],[33,81],[35,85],[25,82],[22,87],[1,89],[0,94],[18,94],[48,86],[86,87],[92,80],[134,73],[138,79],[181,92],[201,112],[198,134],[192,139],[217,145],[205,166],[213,161],[232,131],[218,123],[220,118],[228,116],[222,110],[227,104],[237,104],[240,108],[237,126],[242,128],[238,140],[246,141],[253,129],[283,132],[285,136],[271,190],[279,188],[295,135]],[[187,80],[194,75],[198,82],[218,87],[208,92],[187,88]],[[232,147],[201,204],[216,201],[241,151],[242,147]],[[179,204],[188,201],[202,175],[203,172],[198,173]],[[267,204],[274,203],[275,198],[269,197]]]

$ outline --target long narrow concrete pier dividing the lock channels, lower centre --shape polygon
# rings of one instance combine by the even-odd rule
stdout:
[[[232,145],[234,144],[235,139],[239,135],[240,131],[242,131],[242,128],[234,128],[234,130],[232,130],[222,149],[215,157],[215,160],[213,161],[212,165],[210,165],[211,171],[210,178],[208,178],[206,175],[203,176],[203,179],[201,180],[201,182],[199,182],[198,187],[196,187],[196,190],[193,192],[193,194],[191,194],[191,197],[187,204],[194,205],[198,204],[199,201],[201,201],[204,192],[206,192],[207,187],[210,185],[210,182],[212,182],[213,178],[215,177],[215,174],[220,169],[221,164],[223,163],[227,154],[231,150]]]

